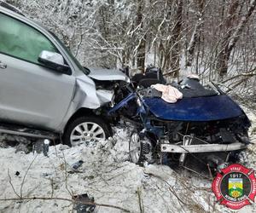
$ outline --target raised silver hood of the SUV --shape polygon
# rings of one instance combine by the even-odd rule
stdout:
[[[90,68],[89,76],[99,81],[125,81],[130,83],[130,78],[118,69]]]

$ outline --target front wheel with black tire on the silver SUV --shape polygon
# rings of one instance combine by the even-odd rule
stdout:
[[[69,147],[84,144],[94,147],[101,140],[106,140],[112,135],[111,127],[102,118],[84,116],[73,119],[64,132],[63,143]]]

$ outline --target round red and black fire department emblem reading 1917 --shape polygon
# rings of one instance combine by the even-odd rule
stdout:
[[[212,182],[212,192],[220,204],[232,210],[253,203],[256,196],[254,170],[241,164],[231,164],[218,172]]]

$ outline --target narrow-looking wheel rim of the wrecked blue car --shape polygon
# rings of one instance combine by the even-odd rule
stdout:
[[[137,133],[131,135],[129,149],[131,162],[137,164],[141,155],[141,141]]]

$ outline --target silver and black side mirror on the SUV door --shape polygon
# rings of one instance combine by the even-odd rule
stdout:
[[[57,72],[71,73],[70,67],[65,65],[64,58],[61,54],[43,50],[38,57],[38,61]]]

